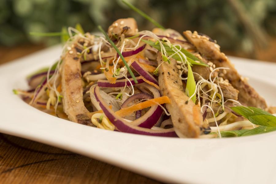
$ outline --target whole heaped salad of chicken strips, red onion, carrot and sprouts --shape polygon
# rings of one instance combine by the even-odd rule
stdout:
[[[30,74],[29,90],[14,93],[46,113],[111,131],[215,138],[276,130],[276,109],[216,40],[165,29],[123,2],[156,28],[140,31],[134,18],[122,18],[107,32],[99,26],[102,34],[63,29],[60,59]]]

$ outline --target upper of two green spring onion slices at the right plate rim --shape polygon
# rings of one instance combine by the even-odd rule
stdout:
[[[231,107],[231,109],[255,125],[276,127],[276,117],[263,109],[244,106]]]

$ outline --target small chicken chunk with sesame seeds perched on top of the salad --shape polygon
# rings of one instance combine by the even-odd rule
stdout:
[[[125,34],[125,36],[132,36],[138,32],[137,22],[134,18],[120,18],[114,21],[108,28],[108,36]]]

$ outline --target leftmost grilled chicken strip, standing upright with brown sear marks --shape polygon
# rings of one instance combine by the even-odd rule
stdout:
[[[89,113],[89,111],[85,108],[82,100],[83,88],[80,59],[75,49],[71,51],[73,51],[72,54],[67,52],[63,58],[61,71],[62,103],[64,112],[68,115],[69,120],[80,123],[77,115]],[[88,124],[88,122],[86,123]]]

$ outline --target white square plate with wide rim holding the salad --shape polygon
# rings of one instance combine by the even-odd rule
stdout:
[[[0,66],[0,132],[49,144],[174,183],[276,183],[276,132],[178,139],[106,131],[59,119],[23,102],[12,90],[59,58],[60,46]],[[276,65],[230,57],[268,105],[276,105]]]

